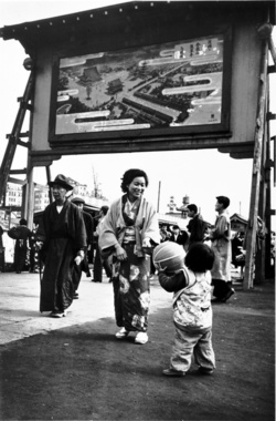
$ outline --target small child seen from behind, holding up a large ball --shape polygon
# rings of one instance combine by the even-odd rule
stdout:
[[[166,274],[157,265],[160,285],[173,292],[174,343],[164,376],[184,376],[192,356],[202,374],[212,374],[215,357],[212,347],[211,273],[214,253],[205,244],[190,248],[181,270]]]

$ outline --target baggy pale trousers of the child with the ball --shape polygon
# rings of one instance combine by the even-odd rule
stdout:
[[[194,362],[206,370],[215,368],[215,357],[212,347],[212,330],[208,332],[191,332],[176,327],[174,343],[170,359],[172,370],[187,372]]]

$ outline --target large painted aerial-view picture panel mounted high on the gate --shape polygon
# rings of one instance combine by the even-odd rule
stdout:
[[[229,130],[224,35],[57,59],[51,141]]]

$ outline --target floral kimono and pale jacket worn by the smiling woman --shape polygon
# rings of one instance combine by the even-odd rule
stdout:
[[[142,239],[149,237],[155,244],[160,240],[156,210],[146,198],[141,198],[134,223],[135,243],[124,243],[126,224],[123,217],[123,201],[118,199],[107,213],[98,244],[102,253],[113,250],[119,243],[126,250],[127,260],[119,261],[114,255],[113,285],[117,326],[128,331],[147,331],[150,305],[150,256],[141,248]]]

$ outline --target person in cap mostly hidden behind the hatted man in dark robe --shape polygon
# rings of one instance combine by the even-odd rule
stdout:
[[[78,289],[78,285],[82,278],[82,271],[86,273],[87,278],[91,276],[88,259],[87,259],[87,250],[91,249],[93,246],[94,222],[91,214],[88,214],[87,212],[84,212],[85,201],[83,199],[83,197],[74,197],[72,198],[71,203],[74,203],[74,205],[76,205],[81,209],[82,216],[84,218],[85,229],[86,229],[86,244],[87,244],[87,247],[85,247],[84,249],[84,259],[82,264],[79,266],[76,266],[76,265],[74,266],[73,280],[74,280],[75,291],[74,291],[73,298],[77,299],[78,298],[77,289]]]

